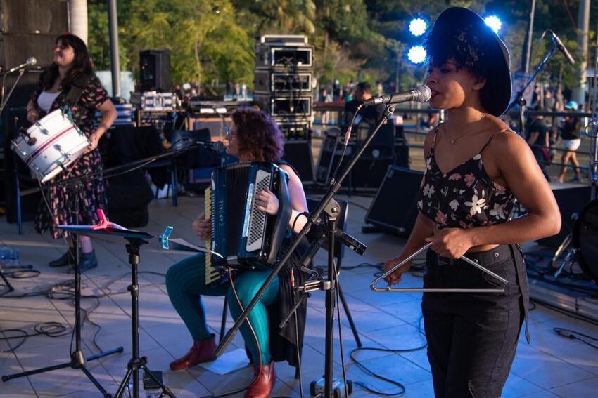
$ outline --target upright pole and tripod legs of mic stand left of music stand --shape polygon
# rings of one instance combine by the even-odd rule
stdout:
[[[75,183],[77,183],[78,186],[79,180],[77,180]],[[75,187],[74,189],[71,189],[75,191],[75,195],[73,195],[73,197],[75,197],[75,208],[73,214],[75,215],[75,223],[77,223],[77,220],[79,220],[79,197],[77,195],[77,188]],[[106,357],[107,355],[115,354],[117,352],[122,352],[123,349],[122,347],[116,347],[112,350],[100,352],[99,354],[94,354],[87,358],[83,356],[83,352],[81,350],[81,270],[79,268],[79,248],[77,234],[72,234],[72,243],[74,245],[73,247],[75,248],[75,351],[70,354],[70,362],[2,376],[2,381],[8,381],[13,378],[20,378],[23,376],[30,376],[37,373],[56,371],[58,369],[71,367],[72,369],[81,369],[81,371],[85,373],[85,376],[91,380],[91,383],[94,383],[96,388],[100,390],[101,394],[106,398],[110,398],[111,395],[104,390],[100,383],[98,383],[98,380],[96,380],[96,378],[94,378],[94,376],[87,370],[85,367],[85,361],[93,361],[94,359]]]

